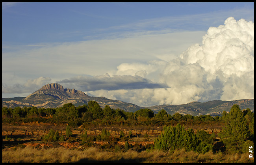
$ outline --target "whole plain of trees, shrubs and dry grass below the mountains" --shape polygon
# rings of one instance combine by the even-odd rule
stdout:
[[[254,112],[238,105],[215,118],[100,109],[97,102],[2,107],[2,163],[253,163],[252,123]]]

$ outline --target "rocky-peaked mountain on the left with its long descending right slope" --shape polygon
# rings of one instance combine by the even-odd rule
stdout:
[[[89,101],[95,100],[102,108],[109,105],[111,108],[124,109],[126,111],[137,111],[142,107],[131,103],[125,103],[118,100],[111,100],[104,97],[91,97],[82,91],[75,89],[64,89],[58,83],[44,85],[41,89],[28,95],[26,98],[2,98],[2,107],[24,107],[35,106],[44,108],[62,107],[65,103],[74,105],[87,104]]]

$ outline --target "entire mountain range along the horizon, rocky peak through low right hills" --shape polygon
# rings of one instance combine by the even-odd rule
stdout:
[[[50,83],[41,87],[41,89],[33,92],[27,97],[2,98],[2,107],[44,107],[56,108],[62,107],[65,103],[72,103],[75,106],[87,104],[89,101],[95,100],[104,108],[109,105],[113,109],[123,109],[128,112],[135,112],[139,109],[148,108],[157,113],[161,109],[173,115],[178,112],[180,114],[191,114],[193,116],[210,114],[211,116],[220,116],[223,111],[229,112],[234,104],[239,105],[241,109],[254,111],[254,99],[243,99],[234,101],[214,100],[209,102],[191,102],[181,105],[156,105],[152,107],[140,107],[132,103],[126,103],[119,100],[111,100],[105,97],[88,96],[82,91],[65,88],[58,83]]]

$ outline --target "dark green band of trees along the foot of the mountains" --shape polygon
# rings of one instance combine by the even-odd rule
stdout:
[[[238,106],[238,105],[237,105]],[[254,113],[250,109],[241,111],[247,125],[252,125]],[[72,103],[64,104],[58,108],[37,107],[2,107],[2,123],[30,123],[33,121],[42,123],[69,123],[72,127],[79,127],[83,123],[101,121],[106,125],[113,123],[134,123],[135,125],[168,125],[168,123],[200,123],[200,122],[224,122],[228,113],[223,111],[222,116],[210,115],[192,116],[175,113],[168,114],[164,109],[155,114],[151,109],[140,109],[135,112],[127,112],[121,109],[112,109],[106,105],[103,109],[96,101],[75,107]],[[135,121],[135,122],[134,122]],[[251,126],[250,126],[251,127]]]

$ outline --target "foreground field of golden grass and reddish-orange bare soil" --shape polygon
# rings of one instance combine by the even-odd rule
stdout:
[[[72,132],[77,137],[81,133],[75,130]],[[87,132],[89,136],[100,134],[100,131]],[[25,136],[24,132],[18,130],[5,139],[5,132],[2,132],[2,163],[254,163],[254,158],[249,158],[249,152],[231,154],[227,151],[215,153],[210,151],[200,154],[193,151],[186,152],[184,149],[174,152],[151,149],[150,146],[154,144],[160,132],[150,131],[148,138],[144,138],[145,132],[140,132],[140,135],[136,132],[133,131],[136,136],[128,139],[132,147],[127,151],[124,149],[125,141],[122,140],[110,141],[110,143],[93,141],[88,145],[77,140],[40,141],[38,136],[31,134]],[[115,131],[112,131],[111,136],[119,135],[115,135]],[[219,141],[215,142],[217,144]],[[221,145],[215,147],[217,147],[215,150],[219,150]]]

